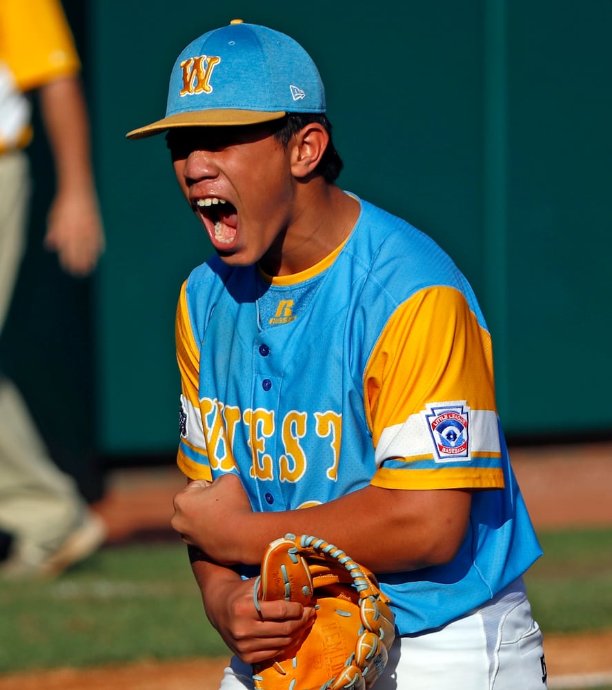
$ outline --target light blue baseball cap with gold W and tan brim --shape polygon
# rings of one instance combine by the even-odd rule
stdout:
[[[288,112],[325,112],[325,89],[313,59],[286,34],[234,19],[181,52],[170,75],[166,117],[127,137],[176,127],[257,124]]]

